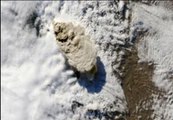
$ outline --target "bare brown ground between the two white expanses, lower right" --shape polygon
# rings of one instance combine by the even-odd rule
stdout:
[[[126,52],[124,60],[120,69],[123,71],[122,87],[129,108],[127,120],[152,120],[150,117],[153,113],[152,94],[161,95],[162,93],[152,82],[154,64],[152,62],[139,63],[136,46]]]

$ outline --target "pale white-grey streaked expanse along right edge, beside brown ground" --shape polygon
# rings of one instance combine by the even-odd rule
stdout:
[[[139,42],[139,62],[154,62],[153,82],[165,95],[153,95],[154,120],[173,119],[173,11],[166,6],[135,4],[133,25],[147,30]]]

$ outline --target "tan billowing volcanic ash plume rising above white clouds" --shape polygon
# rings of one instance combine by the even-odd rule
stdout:
[[[56,41],[68,63],[77,71],[87,73],[92,79],[97,71],[96,49],[81,26],[72,23],[54,23]]]

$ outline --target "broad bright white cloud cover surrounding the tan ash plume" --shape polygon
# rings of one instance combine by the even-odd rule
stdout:
[[[3,120],[96,119],[88,110],[100,110],[99,115],[106,119],[107,111],[126,111],[120,80],[112,73],[117,53],[106,47],[110,42],[124,44],[127,37],[120,33],[126,26],[114,19],[118,11],[114,2],[1,3]],[[92,85],[85,79],[78,83],[67,69],[56,44],[53,19],[84,26],[91,39],[102,44],[98,53],[100,71]],[[75,113],[71,108],[74,101],[84,105]]]

